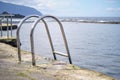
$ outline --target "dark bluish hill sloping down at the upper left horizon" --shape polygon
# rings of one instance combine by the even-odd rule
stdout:
[[[41,12],[39,12],[34,8],[11,4],[11,3],[5,3],[0,1],[0,13],[3,13],[5,11],[11,14],[21,14],[24,16],[31,15],[31,14],[42,15]]]

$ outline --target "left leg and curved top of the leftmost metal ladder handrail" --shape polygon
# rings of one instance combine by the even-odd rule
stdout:
[[[20,47],[20,29],[22,27],[22,24],[29,18],[32,18],[32,17],[36,17],[36,18],[39,18],[40,16],[39,15],[30,15],[30,16],[26,16],[25,18],[23,18],[20,23],[18,24],[18,29],[17,29],[17,32],[16,32],[16,37],[17,37],[17,49],[18,49],[18,60],[19,62],[21,62],[21,47]]]

